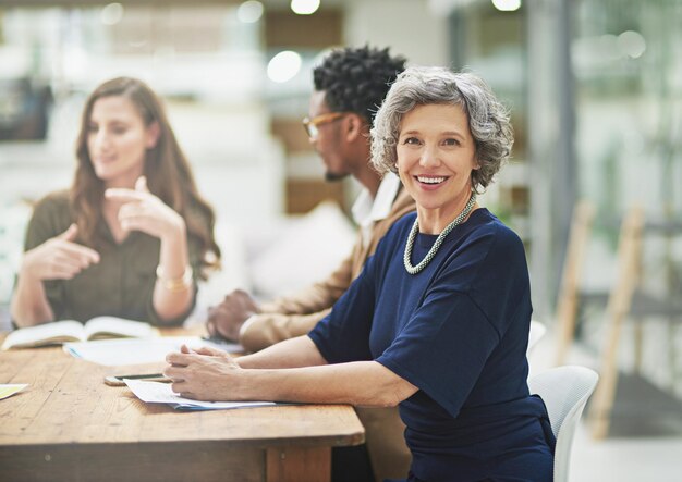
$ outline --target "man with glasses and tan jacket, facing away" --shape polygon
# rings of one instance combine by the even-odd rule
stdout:
[[[307,334],[360,274],[394,221],[414,211],[414,200],[394,174],[383,178],[369,165],[369,129],[391,83],[405,67],[389,49],[345,48],[329,53],[313,72],[315,90],[303,126],[322,159],[327,181],[352,175],[363,190],[352,208],[360,238],[352,255],[330,276],[300,293],[258,306],[248,294],[235,291],[209,310],[211,334],[239,341],[256,351],[283,339]],[[410,452],[398,410],[357,409],[376,480],[407,474]],[[366,458],[366,456],[365,456]],[[334,449],[333,480],[362,481],[362,455]]]

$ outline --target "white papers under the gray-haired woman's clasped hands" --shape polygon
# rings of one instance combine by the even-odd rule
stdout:
[[[124,380],[137,398],[147,404],[168,404],[181,410],[223,410],[228,408],[267,407],[275,401],[200,401],[174,393],[169,383]]]

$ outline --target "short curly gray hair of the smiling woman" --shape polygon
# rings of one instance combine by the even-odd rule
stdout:
[[[412,66],[398,76],[372,128],[374,168],[381,174],[397,172],[403,116],[416,106],[433,103],[460,106],[466,113],[479,166],[472,172],[472,188],[485,190],[511,153],[514,135],[509,112],[480,77],[444,67]]]

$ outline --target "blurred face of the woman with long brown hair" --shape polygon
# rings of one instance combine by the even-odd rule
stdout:
[[[122,96],[95,101],[87,126],[87,150],[106,187],[133,187],[144,172],[147,149],[158,140],[158,126],[146,126],[131,100]]]

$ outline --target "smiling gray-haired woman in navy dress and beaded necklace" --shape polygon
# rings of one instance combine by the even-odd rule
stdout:
[[[553,436],[528,394],[531,288],[519,237],[476,202],[513,143],[472,74],[411,67],[372,131],[417,212],[307,335],[231,359],[170,354],[173,390],[209,399],[400,405],[410,481],[550,481]]]

